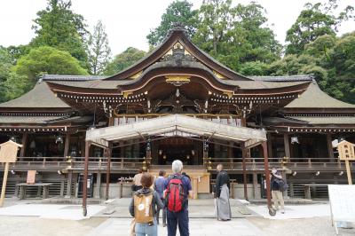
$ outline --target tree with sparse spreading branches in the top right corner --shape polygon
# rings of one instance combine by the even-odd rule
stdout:
[[[354,8],[347,6],[343,12],[335,15],[337,0],[329,0],[326,4],[305,4],[304,10],[296,22],[288,29],[286,54],[301,54],[307,43],[312,43],[321,35],[335,35],[337,28],[344,20],[353,18]]]

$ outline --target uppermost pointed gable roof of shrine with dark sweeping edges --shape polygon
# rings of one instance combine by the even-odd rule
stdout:
[[[151,66],[159,59],[170,51],[170,49],[176,44],[180,43],[186,51],[191,53],[194,58],[198,59],[203,65],[211,68],[220,75],[224,75],[226,79],[239,80],[239,81],[250,81],[252,79],[240,75],[234,72],[232,69],[225,67],[222,63],[218,62],[216,59],[213,59],[209,56],[208,53],[201,51],[197,46],[195,46],[191,40],[185,35],[185,29],[183,28],[174,28],[171,30],[170,35],[162,42],[161,45],[156,47],[154,51],[148,53],[143,59],[138,60],[134,65],[124,69],[122,72],[117,75],[112,75],[107,77],[104,80],[124,80],[130,78],[132,75],[136,75],[146,67]]]

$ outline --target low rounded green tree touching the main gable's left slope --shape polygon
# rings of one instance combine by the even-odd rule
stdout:
[[[123,69],[130,67],[138,59],[143,58],[146,55],[146,51],[140,51],[136,48],[129,47],[122,53],[116,55],[114,59],[107,64],[105,69],[105,75],[114,75],[122,71]]]

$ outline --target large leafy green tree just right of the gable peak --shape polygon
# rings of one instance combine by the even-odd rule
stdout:
[[[232,6],[231,0],[206,0],[199,10],[193,43],[234,70],[241,64],[280,59],[281,45],[265,27],[264,8],[252,2]]]

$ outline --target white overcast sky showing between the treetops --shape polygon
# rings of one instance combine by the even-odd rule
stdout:
[[[325,2],[327,0],[320,0]],[[36,12],[46,6],[46,0],[2,0],[0,3],[0,45],[19,45],[28,43],[34,37],[31,29]],[[98,20],[106,26],[113,54],[133,46],[147,51],[146,35],[161,21],[162,13],[173,0],[72,0],[73,10],[83,15],[90,29]],[[193,8],[201,5],[202,0],[192,0]],[[250,1],[233,1],[233,4],[248,4]],[[307,2],[319,0],[258,0],[267,11],[269,25],[284,43],[288,28]],[[355,0],[340,0],[340,8],[355,6]],[[355,30],[354,22],[345,22],[339,35]]]

